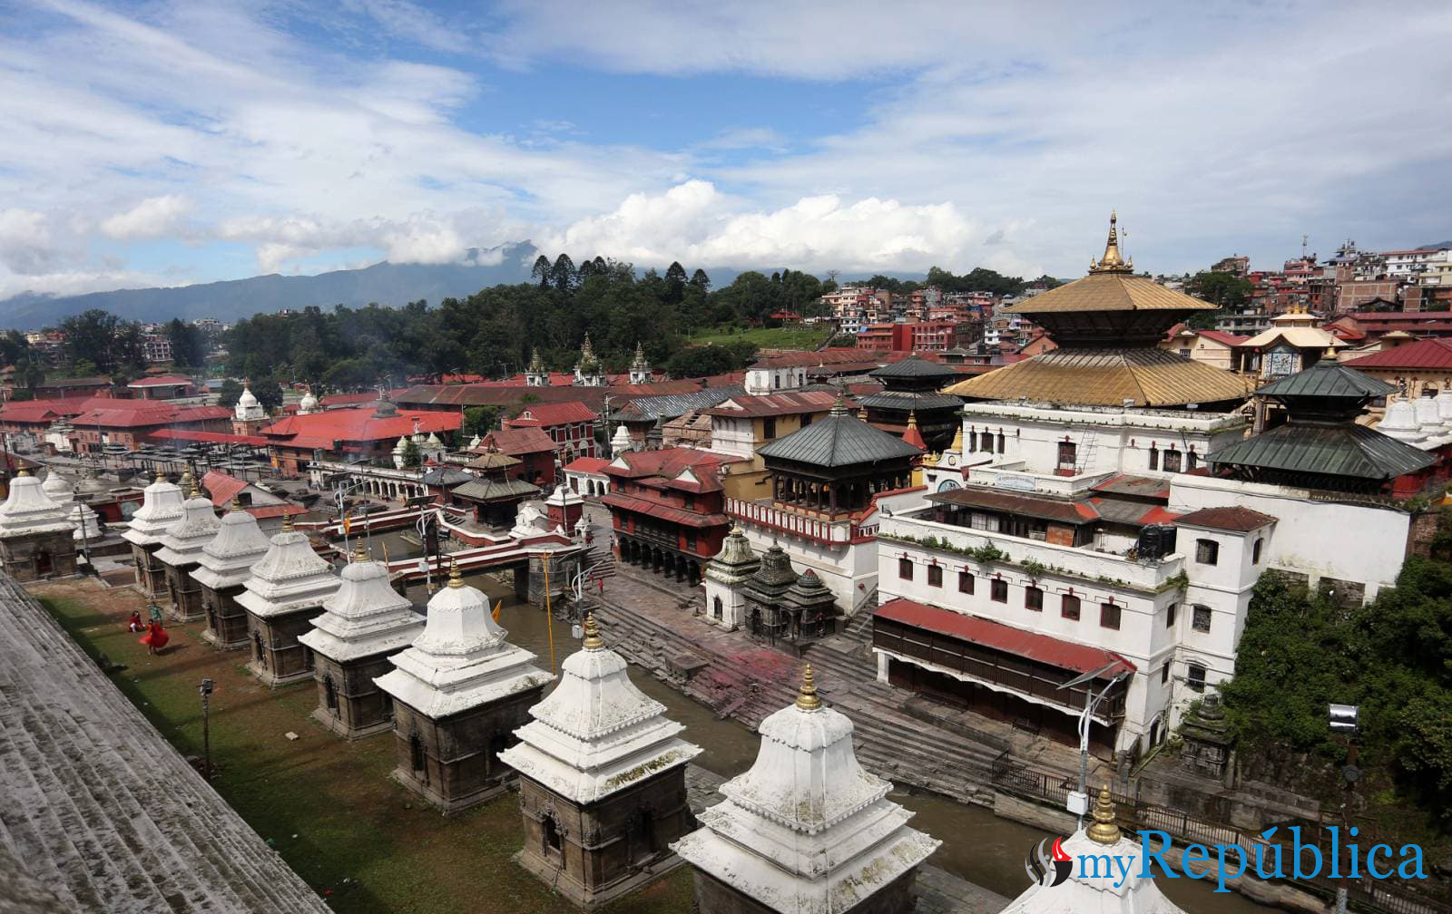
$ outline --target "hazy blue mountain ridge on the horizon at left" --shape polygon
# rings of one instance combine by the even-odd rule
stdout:
[[[234,322],[283,308],[360,308],[370,302],[396,308],[418,299],[439,302],[446,297],[468,297],[488,286],[527,280],[534,245],[521,242],[472,254],[476,263],[379,263],[362,270],[335,270],[318,276],[254,276],[174,289],[118,289],[54,297],[20,295],[0,302],[0,326],[54,326],[64,318],[93,308],[126,321],[216,318]],[[498,263],[478,264],[494,261],[497,254],[502,254]]]

